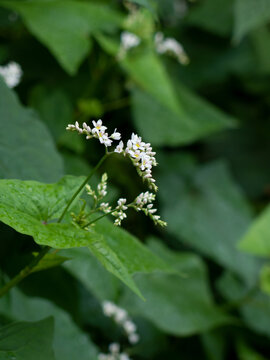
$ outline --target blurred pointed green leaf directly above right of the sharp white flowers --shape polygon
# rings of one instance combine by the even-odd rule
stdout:
[[[199,98],[185,86],[178,83],[176,91],[181,114],[175,113],[139,89],[132,92],[135,126],[152,144],[188,144],[236,124],[235,119]]]

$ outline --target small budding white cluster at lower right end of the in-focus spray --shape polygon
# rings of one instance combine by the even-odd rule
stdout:
[[[149,216],[154,221],[155,225],[167,226],[167,223],[161,220],[159,215],[155,214],[157,212],[157,209],[153,207],[155,198],[155,194],[146,191],[136,197],[132,207],[137,211],[143,211],[146,216]]]

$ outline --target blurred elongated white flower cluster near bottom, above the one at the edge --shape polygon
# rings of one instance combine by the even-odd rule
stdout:
[[[139,335],[137,334],[137,327],[134,322],[128,316],[126,310],[118,307],[111,301],[103,301],[102,309],[104,315],[113,318],[113,320],[123,327],[125,333],[128,336],[128,341],[131,344],[137,344],[139,341]]]

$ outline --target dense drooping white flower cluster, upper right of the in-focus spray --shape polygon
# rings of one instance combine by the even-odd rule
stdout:
[[[152,177],[152,167],[157,166],[156,153],[153,151],[150,143],[145,143],[140,136],[132,134],[126,148],[124,148],[123,141],[120,141],[114,151],[128,155],[135,165],[138,174],[148,183],[151,189],[157,191],[155,179]]]

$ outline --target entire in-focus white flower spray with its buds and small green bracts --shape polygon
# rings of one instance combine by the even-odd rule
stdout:
[[[155,192],[157,192],[158,187],[156,186],[155,179],[153,178],[152,168],[157,166],[157,161],[155,158],[156,153],[153,151],[150,143],[145,143],[142,141],[140,136],[132,134],[131,138],[126,144],[124,144],[121,140],[121,134],[117,131],[117,129],[115,129],[111,135],[107,133],[107,127],[103,125],[102,120],[92,121],[92,127],[86,123],[83,123],[82,127],[80,127],[79,123],[75,122],[74,125],[68,125],[67,130],[77,131],[79,134],[85,135],[87,140],[93,138],[98,139],[99,142],[105,146],[105,155],[100,160],[97,167],[99,167],[101,163],[112,154],[118,153],[122,156],[128,157],[135,166],[142,181],[146,183],[150,190],[139,194],[131,202],[128,202],[126,198],[121,197],[117,200],[115,205],[109,204],[104,201],[104,198],[107,195],[108,181],[108,176],[104,173],[97,189],[93,189],[89,184],[85,185],[87,194],[93,200],[93,206],[89,213],[85,212],[84,204],[79,214],[71,214],[73,223],[76,226],[87,230],[89,226],[94,225],[97,220],[106,215],[113,216],[115,218],[114,224],[119,226],[127,217],[127,210],[129,208],[138,212],[143,212],[154,222],[155,225],[160,225],[162,227],[166,226],[166,222],[162,221],[160,216],[156,214],[157,209],[155,209],[153,205],[156,198]],[[114,141],[118,141],[118,144],[112,148]],[[89,217],[92,217],[94,213],[98,212],[103,213],[103,215],[89,221]]]

